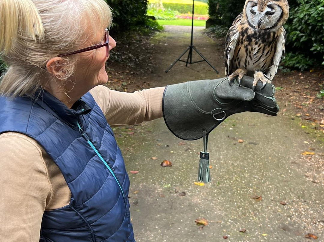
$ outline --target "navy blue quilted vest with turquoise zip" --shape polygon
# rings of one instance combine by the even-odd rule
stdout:
[[[113,132],[90,93],[68,109],[47,92],[41,100],[0,96],[0,133],[35,139],[60,168],[70,204],[45,211],[42,242],[133,242],[129,178]]]

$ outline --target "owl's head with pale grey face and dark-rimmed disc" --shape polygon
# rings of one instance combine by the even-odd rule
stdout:
[[[246,0],[243,8],[243,18],[249,26],[264,31],[276,31],[288,16],[287,0]]]

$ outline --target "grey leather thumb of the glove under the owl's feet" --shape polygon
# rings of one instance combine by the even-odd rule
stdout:
[[[219,102],[223,102],[220,99],[240,100],[240,101],[251,101],[255,93],[252,89],[246,87],[239,87],[237,83],[230,85],[225,78],[217,84],[214,89],[215,98]],[[220,99],[219,99],[220,98]]]

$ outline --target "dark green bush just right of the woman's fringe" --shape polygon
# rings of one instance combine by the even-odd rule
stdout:
[[[147,0],[105,0],[112,9],[113,29],[127,30],[136,25],[145,25]]]

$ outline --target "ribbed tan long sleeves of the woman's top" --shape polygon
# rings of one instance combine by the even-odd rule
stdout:
[[[90,91],[110,126],[133,125],[162,117],[165,87],[134,93],[105,86]],[[32,138],[0,135],[0,241],[38,242],[45,210],[70,203],[63,174]]]

